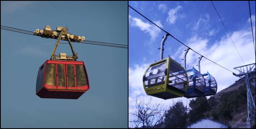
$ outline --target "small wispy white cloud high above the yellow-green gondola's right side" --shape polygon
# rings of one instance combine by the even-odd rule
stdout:
[[[177,18],[184,18],[185,15],[177,15],[178,10],[182,9],[181,6],[177,6],[176,8],[170,9],[170,11],[168,12],[168,18],[166,19],[166,21],[169,24],[174,24]]]

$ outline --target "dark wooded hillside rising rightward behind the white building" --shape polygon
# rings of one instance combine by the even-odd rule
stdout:
[[[255,102],[255,87],[251,84],[251,82],[255,82],[255,73],[250,74],[249,77],[251,77],[250,88]],[[247,120],[245,81],[239,79],[209,99],[206,97],[192,99],[189,102],[189,107],[189,109],[186,108],[181,101],[174,103],[165,115],[165,128],[184,128],[185,125],[203,117],[213,117],[215,120],[229,125],[230,128],[243,128],[246,126]],[[186,112],[181,113],[184,110]]]

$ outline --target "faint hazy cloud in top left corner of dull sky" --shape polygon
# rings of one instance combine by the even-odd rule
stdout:
[[[31,5],[32,2],[31,1],[1,1],[1,10],[3,9],[4,11],[13,13],[16,10],[25,8],[29,5]]]

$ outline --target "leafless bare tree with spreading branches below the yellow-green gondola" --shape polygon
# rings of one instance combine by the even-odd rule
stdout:
[[[161,103],[152,103],[151,97],[148,102],[138,100],[136,96],[135,108],[133,107],[132,120],[129,121],[132,128],[157,128],[164,123],[165,109]],[[140,126],[140,127],[139,127]]]

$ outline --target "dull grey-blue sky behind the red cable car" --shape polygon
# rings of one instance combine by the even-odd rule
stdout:
[[[127,45],[127,3],[1,1],[1,25],[29,31],[68,26],[87,40]],[[41,99],[37,72],[55,42],[1,29],[1,128],[127,128],[128,50],[73,43],[90,90],[77,100]],[[55,54],[60,52],[72,55],[67,44]]]

